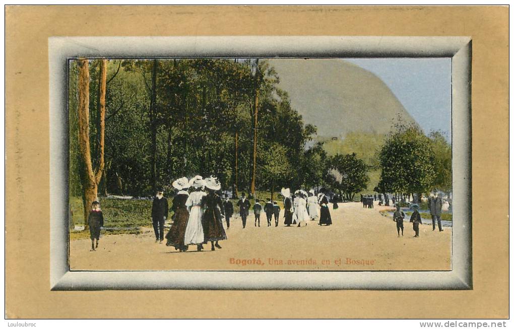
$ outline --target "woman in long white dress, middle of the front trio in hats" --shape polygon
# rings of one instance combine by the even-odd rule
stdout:
[[[201,210],[201,202],[207,195],[202,189],[205,186],[205,181],[201,176],[191,178],[189,184],[194,189],[189,194],[186,201],[186,207],[189,210],[189,221],[186,227],[186,234],[184,237],[184,245],[196,245],[197,251],[204,249],[204,228],[201,226],[201,217],[203,212]]]

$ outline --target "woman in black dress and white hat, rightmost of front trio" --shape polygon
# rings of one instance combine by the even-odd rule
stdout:
[[[205,187],[208,194],[204,197],[201,205],[204,209],[204,217],[202,226],[204,227],[204,242],[211,242],[211,250],[216,250],[214,247],[221,249],[219,240],[227,240],[227,234],[223,228],[222,221],[222,198],[216,194],[215,191],[221,189],[221,184],[216,177],[208,177],[205,179]]]

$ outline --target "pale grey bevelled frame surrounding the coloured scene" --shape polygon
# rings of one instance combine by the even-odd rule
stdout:
[[[271,42],[270,42],[271,41]],[[472,288],[471,38],[378,36],[52,37],[50,74],[50,288],[426,290]],[[69,271],[67,59],[176,57],[451,57],[453,229],[451,271]],[[457,225],[455,225],[457,223]],[[223,272],[216,276],[213,272]],[[307,274],[306,274],[307,272]],[[423,273],[424,282],[416,273]]]

